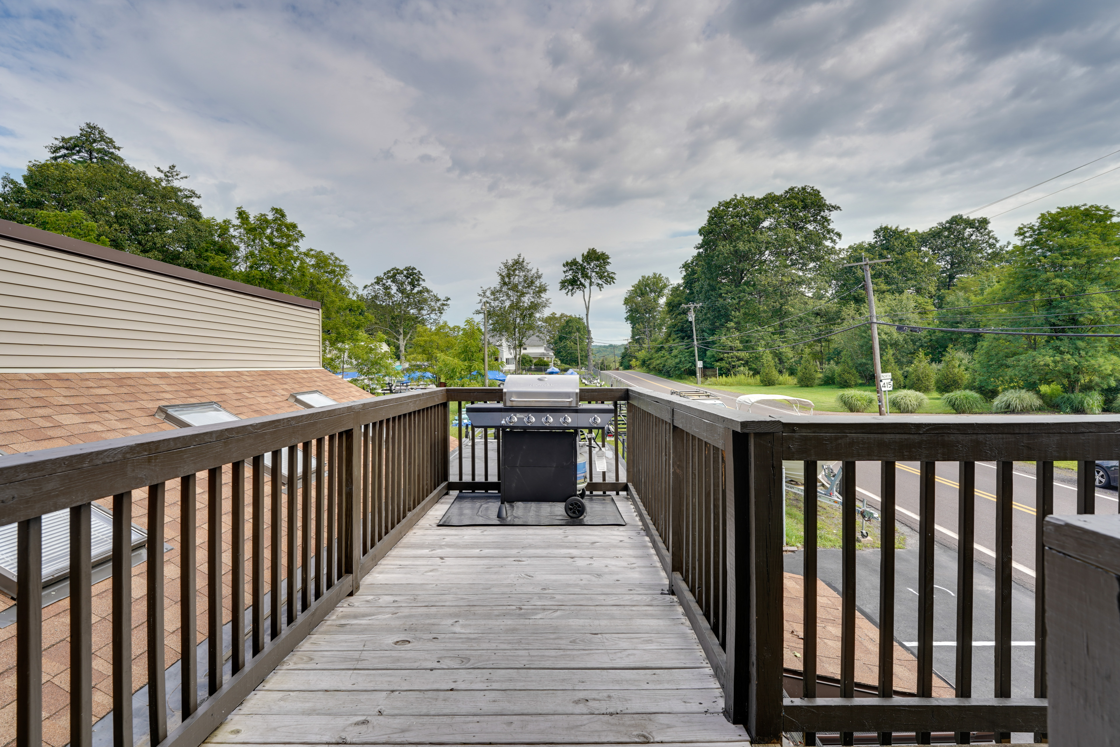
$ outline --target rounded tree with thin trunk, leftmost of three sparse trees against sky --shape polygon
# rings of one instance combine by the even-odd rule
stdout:
[[[450,298],[429,288],[414,267],[392,268],[362,289],[370,327],[384,332],[396,344],[401,368],[404,351],[420,325],[431,326],[447,310]]]

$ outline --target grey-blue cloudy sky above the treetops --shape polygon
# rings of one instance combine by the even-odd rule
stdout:
[[[414,264],[474,308],[524,253],[607,251],[603,340],[732,194],[819,187],[844,243],[924,228],[1120,148],[1120,6],[0,0],[0,171],[85,121],[204,212],[281,206],[358,283]],[[1120,166],[1120,153],[982,214]],[[1120,170],[993,217],[1120,206]],[[553,295],[576,312],[578,299]]]

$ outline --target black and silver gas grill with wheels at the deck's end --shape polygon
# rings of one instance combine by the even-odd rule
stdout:
[[[615,409],[580,404],[579,376],[507,376],[501,404],[468,404],[467,414],[475,428],[498,431],[500,519],[506,503],[519,501],[563,503],[568,516],[584,515],[576,489],[579,430],[606,428]]]

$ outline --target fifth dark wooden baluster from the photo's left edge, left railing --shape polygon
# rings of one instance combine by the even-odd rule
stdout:
[[[179,478],[179,695],[183,718],[198,710],[198,514],[195,475]]]

